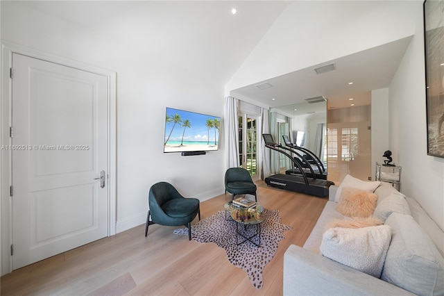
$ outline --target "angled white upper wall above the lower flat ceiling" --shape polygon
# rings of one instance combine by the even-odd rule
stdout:
[[[414,1],[295,1],[282,12],[225,90],[410,36],[414,33],[414,9]]]

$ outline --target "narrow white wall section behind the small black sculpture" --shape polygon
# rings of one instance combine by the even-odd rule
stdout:
[[[372,180],[375,181],[375,163],[384,163],[386,158],[382,157],[384,151],[389,150],[388,138],[388,117],[390,116],[388,110],[388,88],[372,91]],[[393,151],[392,151],[393,152]],[[396,163],[396,162],[395,162]]]

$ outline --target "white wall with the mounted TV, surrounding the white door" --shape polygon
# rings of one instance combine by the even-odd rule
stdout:
[[[141,40],[114,37],[126,31],[101,35],[17,1],[2,2],[2,40],[117,72],[117,232],[145,222],[148,189],[157,181],[200,200],[223,193],[223,147],[205,156],[163,153],[167,106],[222,117],[223,83],[216,74],[193,72],[180,64],[189,63],[187,56],[149,46],[146,58],[135,60],[132,49]],[[164,38],[157,31],[152,42]]]

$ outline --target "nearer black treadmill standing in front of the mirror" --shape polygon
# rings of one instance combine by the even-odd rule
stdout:
[[[264,180],[268,186],[305,193],[307,195],[314,195],[317,197],[325,197],[328,195],[328,188],[334,185],[332,181],[317,179],[316,174],[314,173],[313,178],[307,177],[307,174],[305,174],[302,166],[297,161],[295,161],[291,154],[288,154],[286,151],[284,151],[288,150],[291,152],[291,149],[275,143],[273,141],[273,135],[271,135],[270,133],[263,133],[262,138],[264,138],[265,147],[278,151],[279,153],[284,154],[284,156],[290,158],[294,165],[296,165],[296,167],[298,167],[298,169],[302,173],[300,175],[294,176],[291,174],[275,174],[273,176],[268,176]]]

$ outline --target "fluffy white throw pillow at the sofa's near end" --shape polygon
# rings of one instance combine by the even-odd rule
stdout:
[[[321,254],[343,265],[379,278],[391,240],[391,227],[335,227],[325,231]]]

